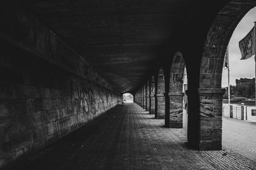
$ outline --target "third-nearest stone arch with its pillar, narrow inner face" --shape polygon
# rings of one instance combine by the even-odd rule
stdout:
[[[155,118],[163,119],[165,117],[165,83],[164,83],[164,71],[159,69],[157,76],[157,89],[156,89],[156,111]]]

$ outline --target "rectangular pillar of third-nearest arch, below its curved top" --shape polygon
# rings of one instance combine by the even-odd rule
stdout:
[[[165,115],[165,96],[164,94],[156,94],[156,118],[164,118]]]

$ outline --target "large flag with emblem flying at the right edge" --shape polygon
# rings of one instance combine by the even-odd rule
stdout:
[[[242,55],[241,60],[248,59],[252,57],[252,55],[255,55],[255,46],[255,31],[253,27],[252,30],[239,41],[239,48]]]

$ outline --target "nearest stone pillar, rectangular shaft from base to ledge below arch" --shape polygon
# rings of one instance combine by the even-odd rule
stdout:
[[[199,150],[221,150],[222,99],[225,89],[198,89]]]

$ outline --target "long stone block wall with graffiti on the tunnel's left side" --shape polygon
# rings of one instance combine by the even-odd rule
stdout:
[[[120,94],[19,4],[0,8],[1,167],[109,110]]]

